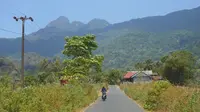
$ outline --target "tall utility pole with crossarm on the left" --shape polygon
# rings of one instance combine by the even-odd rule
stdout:
[[[16,21],[21,20],[22,21],[22,51],[21,51],[21,86],[22,88],[24,87],[24,23],[26,20],[31,20],[33,21],[32,17],[27,18],[26,16],[24,17],[13,17]]]

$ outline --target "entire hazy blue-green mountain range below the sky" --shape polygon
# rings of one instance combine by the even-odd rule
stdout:
[[[55,56],[64,48],[64,37],[95,34],[99,49],[105,55],[105,66],[120,68],[134,61],[159,56],[177,49],[189,49],[200,56],[200,7],[110,24],[93,19],[87,24],[70,22],[60,16],[45,28],[26,36],[25,51]],[[20,53],[21,39],[0,38],[0,55]],[[131,62],[131,63],[129,63]]]

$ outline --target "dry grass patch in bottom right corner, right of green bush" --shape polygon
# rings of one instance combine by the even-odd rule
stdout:
[[[161,95],[159,112],[200,112],[199,88],[170,87]]]

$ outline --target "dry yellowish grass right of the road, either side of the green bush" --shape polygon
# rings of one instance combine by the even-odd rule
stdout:
[[[153,83],[128,84],[120,85],[120,88],[129,97],[144,105],[152,85]],[[170,86],[159,96],[159,103],[154,112],[200,112],[200,89]]]

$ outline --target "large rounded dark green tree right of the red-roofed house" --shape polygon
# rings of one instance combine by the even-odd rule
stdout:
[[[195,58],[188,51],[175,51],[162,59],[164,77],[175,84],[183,84],[193,77]]]

